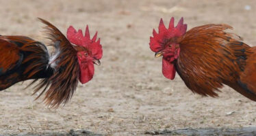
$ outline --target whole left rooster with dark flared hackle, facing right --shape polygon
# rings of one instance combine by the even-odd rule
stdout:
[[[83,35],[81,29],[72,26],[67,30],[67,38],[46,20],[46,32],[51,40],[49,46],[25,36],[0,36],[0,90],[17,82],[33,80],[36,83],[34,94],[41,90],[44,103],[58,107],[71,99],[78,84],[85,84],[94,75],[94,64],[100,65],[103,50],[97,33],[90,39],[88,26]],[[29,84],[29,86],[31,85]],[[36,99],[38,99],[38,97]]]

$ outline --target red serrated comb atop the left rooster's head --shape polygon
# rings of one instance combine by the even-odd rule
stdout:
[[[75,44],[77,46],[84,46],[88,50],[92,52],[92,55],[100,59],[102,56],[102,46],[100,44],[101,39],[99,38],[97,40],[97,32],[95,35],[90,39],[90,33],[88,29],[88,25],[86,26],[86,33],[83,35],[83,32],[81,29],[76,31],[74,27],[69,27],[68,31],[66,32],[66,36],[68,38],[68,41],[70,41],[72,44]],[[96,41],[97,40],[97,41]]]

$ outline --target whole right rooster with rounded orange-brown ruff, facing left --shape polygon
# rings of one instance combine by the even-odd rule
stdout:
[[[206,24],[187,30],[183,18],[168,29],[163,20],[153,29],[149,46],[162,56],[162,73],[173,80],[179,74],[185,85],[199,95],[218,97],[223,84],[256,101],[256,47],[248,46],[227,24]]]

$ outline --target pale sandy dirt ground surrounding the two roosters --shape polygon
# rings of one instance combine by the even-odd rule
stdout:
[[[101,66],[88,84],[79,84],[64,107],[49,109],[34,101],[33,87],[18,83],[0,92],[0,135],[27,135],[86,130],[101,135],[153,135],[177,129],[256,129],[256,103],[225,86],[220,97],[194,95],[177,75],[167,80],[162,61],[149,49],[159,19],[188,29],[226,23],[256,45],[256,1],[253,0],[75,0],[0,1],[0,34],[27,35],[47,41],[37,17],[63,33],[69,25],[99,31]],[[239,132],[237,133],[239,134]],[[166,135],[172,135],[171,133]],[[189,135],[189,134],[181,134]],[[236,135],[236,134],[234,134]]]

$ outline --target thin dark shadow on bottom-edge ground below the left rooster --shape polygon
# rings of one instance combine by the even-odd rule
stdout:
[[[74,131],[73,129],[71,129],[71,131],[69,132],[58,132],[58,133],[21,133],[21,134],[17,134],[17,135],[12,135],[12,136],[79,136],[79,135],[84,135],[84,136],[103,136],[101,134],[97,134],[97,133],[92,133],[90,131],[86,131],[86,130],[77,130]],[[11,136],[11,135],[8,135]]]

